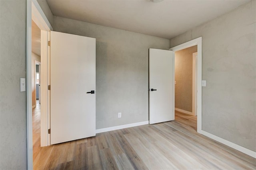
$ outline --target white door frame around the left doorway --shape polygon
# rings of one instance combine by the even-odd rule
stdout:
[[[34,62],[32,62],[32,20],[40,28],[41,32],[41,58],[40,58],[40,145],[47,146],[50,144],[50,136],[47,135],[47,129],[49,125],[47,120],[50,119],[48,116],[48,98],[50,97],[47,85],[48,85],[48,53],[50,53],[50,48],[48,47],[48,41],[50,40],[50,30],[52,26],[47,20],[44,12],[42,11],[40,5],[35,0],[27,1],[27,36],[26,36],[26,95],[27,95],[27,160],[28,160],[28,169],[33,169],[33,120],[32,120],[32,67],[34,67]],[[33,65],[33,66],[32,66]]]

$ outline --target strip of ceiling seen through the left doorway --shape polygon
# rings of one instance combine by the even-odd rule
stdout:
[[[41,30],[32,20],[32,52],[41,56]]]

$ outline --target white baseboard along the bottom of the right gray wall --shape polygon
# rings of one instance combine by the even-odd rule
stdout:
[[[223,138],[220,138],[218,136],[215,136],[214,134],[210,134],[209,132],[205,132],[204,130],[201,131],[201,134],[203,134],[204,136],[207,136],[209,138],[212,138],[212,139],[214,139],[214,140],[216,140],[216,141],[218,141],[218,142],[220,142],[222,144],[225,144],[225,145],[227,145],[227,146],[229,146],[231,148],[234,148],[234,149],[236,149],[236,150],[238,150],[240,152],[243,152],[244,154],[247,154],[249,156],[252,156],[252,157],[256,158],[256,152],[254,152],[252,150],[244,148],[244,147],[242,147],[242,146],[240,146],[238,144],[234,144],[234,143],[232,143],[232,142],[230,142],[230,141],[228,141],[226,139],[223,139]]]

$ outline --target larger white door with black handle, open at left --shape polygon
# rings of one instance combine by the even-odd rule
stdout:
[[[95,136],[96,40],[50,38],[50,144]]]

